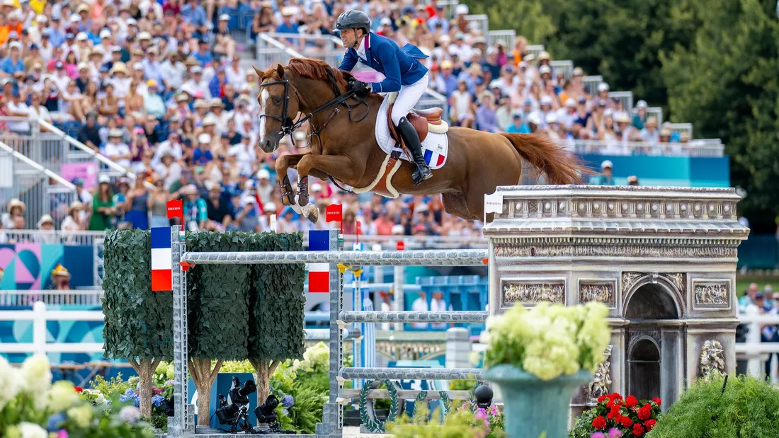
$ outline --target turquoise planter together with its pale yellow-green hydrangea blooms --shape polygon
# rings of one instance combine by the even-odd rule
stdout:
[[[482,378],[498,384],[512,438],[567,435],[573,391],[592,380],[611,338],[601,303],[513,306],[491,317]]]

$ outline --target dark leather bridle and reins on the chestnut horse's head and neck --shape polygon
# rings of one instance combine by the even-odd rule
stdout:
[[[327,120],[322,125],[322,128],[315,128],[312,124],[312,131],[311,136],[316,135],[316,137],[319,139],[319,145],[322,145],[322,138],[319,137],[319,133],[323,131],[323,129],[327,126],[327,124],[330,122],[330,120],[335,117],[336,114],[340,112],[340,109],[338,106],[344,105],[347,107],[347,110],[349,111],[349,120],[353,121],[355,123],[363,121],[365,117],[368,117],[368,114],[370,113],[370,107],[368,107],[368,103],[365,103],[365,99],[362,99],[359,96],[356,96],[354,94],[354,91],[347,90],[346,93],[341,93],[340,89],[338,89],[338,83],[336,82],[335,75],[333,74],[333,69],[330,68],[330,66],[327,67],[327,78],[330,79],[331,85],[333,86],[333,93],[335,93],[335,99],[330,100],[329,102],[325,103],[323,106],[313,110],[311,113],[305,115],[305,117],[301,117],[298,121],[293,121],[291,117],[289,117],[288,111],[289,111],[289,101],[290,101],[290,88],[292,89],[295,97],[298,99],[298,107],[300,107],[300,94],[298,93],[298,90],[294,88],[289,82],[288,79],[279,79],[277,81],[271,81],[271,82],[265,82],[259,84],[260,88],[263,88],[263,86],[272,86],[272,85],[284,85],[284,107],[281,112],[281,115],[276,114],[260,114],[259,117],[270,117],[273,120],[277,120],[281,123],[281,129],[278,132],[279,135],[286,136],[289,135],[290,138],[292,138],[292,145],[294,147],[298,147],[298,145],[295,145],[294,142],[294,131],[296,131],[298,128],[300,128],[303,124],[305,124],[306,121],[310,120],[311,117],[314,117],[316,114],[319,114],[323,110],[326,110],[330,107],[335,107],[333,109],[333,112],[330,113],[330,117],[327,117]],[[355,100],[358,100],[358,103],[354,105],[350,105],[347,100],[354,97]],[[351,110],[354,107],[358,107],[359,105],[365,105],[365,114],[363,114],[362,117],[360,117],[358,120],[354,120],[351,118]],[[302,146],[303,148],[308,147],[308,145]]]

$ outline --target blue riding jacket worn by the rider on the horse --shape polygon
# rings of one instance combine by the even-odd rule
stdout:
[[[422,53],[413,44],[406,44],[401,49],[395,41],[373,32],[368,33],[360,44],[365,44],[365,58],[367,59],[360,58],[357,51],[349,47],[338,69],[351,72],[351,69],[359,61],[382,73],[385,76],[382,82],[371,83],[373,93],[399,91],[400,86],[414,84],[428,72],[428,68],[418,61],[418,58],[428,58],[428,55]]]

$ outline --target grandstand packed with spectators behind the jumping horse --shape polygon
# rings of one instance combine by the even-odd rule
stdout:
[[[418,107],[443,107],[451,124],[545,132],[595,169],[609,159],[612,175],[593,184],[626,184],[633,174],[641,184],[728,184],[717,139],[693,138],[692,124],[664,121],[661,108],[612,91],[597,72],[554,59],[514,30],[491,29],[457,0],[361,7],[372,31],[430,55],[431,86]],[[191,228],[269,230],[273,214],[279,231],[312,227],[283,208],[275,187],[275,159],[294,151],[291,142],[274,154],[254,148],[251,67],[295,57],[339,65],[344,48],[332,29],[342,2],[37,9],[23,1],[0,12],[9,30],[0,33],[0,244],[12,240],[2,229],[166,223],[170,198],[186,200]],[[349,234],[359,221],[368,235],[480,235],[479,223],[442,212],[440,199],[358,197],[326,181],[311,188],[320,205],[347,207]]]

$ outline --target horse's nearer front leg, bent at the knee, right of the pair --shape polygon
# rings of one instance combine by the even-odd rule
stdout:
[[[312,223],[319,220],[319,208],[308,204],[308,175],[316,176],[325,173],[337,180],[355,181],[365,173],[365,163],[354,163],[350,156],[345,155],[311,155],[303,156],[298,162],[298,204],[302,214]]]

